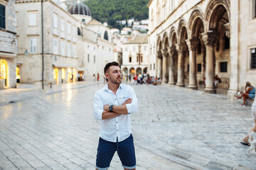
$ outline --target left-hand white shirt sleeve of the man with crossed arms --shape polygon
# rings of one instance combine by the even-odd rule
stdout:
[[[96,120],[102,120],[103,103],[100,97],[100,91],[96,91],[93,103],[93,115]]]

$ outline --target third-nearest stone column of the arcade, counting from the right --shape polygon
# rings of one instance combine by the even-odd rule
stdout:
[[[178,80],[177,80],[177,86],[184,87],[184,58],[186,55],[186,44],[181,43],[176,45],[178,49]]]

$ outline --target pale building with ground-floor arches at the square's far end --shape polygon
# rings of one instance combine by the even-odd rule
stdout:
[[[148,69],[148,37],[137,36],[124,42],[122,48],[122,74],[134,75],[146,73]]]

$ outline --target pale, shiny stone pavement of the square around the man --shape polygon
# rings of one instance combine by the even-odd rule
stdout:
[[[102,86],[0,91],[0,169],[95,169],[92,103]],[[133,87],[137,169],[256,169],[256,154],[240,145],[253,125],[250,107],[176,86]],[[111,169],[122,169],[116,154]]]

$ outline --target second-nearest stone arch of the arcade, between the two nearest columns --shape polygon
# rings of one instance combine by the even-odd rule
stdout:
[[[196,7],[193,12],[191,13],[191,17],[188,20],[188,34],[189,37],[198,37],[198,33],[196,33],[195,30],[197,30],[196,26],[198,24],[198,21],[204,23],[203,21],[203,12],[201,11],[201,8]],[[203,26],[203,29],[205,27]],[[203,33],[206,32],[203,30]]]

